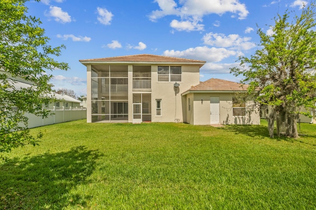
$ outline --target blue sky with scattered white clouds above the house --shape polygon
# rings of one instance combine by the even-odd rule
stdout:
[[[269,34],[277,13],[300,14],[307,0],[30,0],[29,15],[40,18],[56,60],[68,71],[47,72],[54,89],[86,95],[86,67],[80,59],[154,54],[205,60],[200,80],[239,82],[229,73],[238,56],[250,56],[260,42],[257,25]]]

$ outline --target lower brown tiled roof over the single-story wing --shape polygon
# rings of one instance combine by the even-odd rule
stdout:
[[[205,82],[200,82],[197,86],[192,87],[189,90],[247,90],[248,85],[241,85],[227,80],[221,79],[209,79]]]

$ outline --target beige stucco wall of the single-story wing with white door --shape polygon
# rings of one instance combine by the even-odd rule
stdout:
[[[193,93],[191,93],[193,94]],[[187,98],[191,97],[187,94]],[[246,113],[246,116],[233,116],[233,97],[234,93],[194,93],[193,117],[187,117],[187,122],[195,125],[210,124],[210,97],[219,96],[220,100],[220,123],[221,124],[260,124],[259,111]],[[187,99],[188,100],[188,99]],[[191,99],[192,100],[192,99]],[[203,100],[203,102],[201,101]],[[251,101],[247,101],[247,107],[251,106]],[[188,115],[189,116],[189,115]]]

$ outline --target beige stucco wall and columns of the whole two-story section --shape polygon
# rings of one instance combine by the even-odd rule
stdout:
[[[111,64],[110,64],[111,65]],[[124,64],[123,64],[124,65]],[[127,65],[127,64],[126,64]],[[151,91],[133,91],[133,65],[151,66]],[[181,82],[158,82],[158,66],[181,66]],[[133,122],[133,93],[151,93],[152,122],[183,122],[187,114],[181,93],[199,84],[199,65],[193,64],[128,64],[128,122]],[[161,116],[156,116],[156,99],[161,99]],[[87,65],[87,122],[91,122],[91,65]]]

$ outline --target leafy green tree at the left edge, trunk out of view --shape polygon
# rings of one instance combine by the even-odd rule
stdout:
[[[36,0],[39,1],[39,0]],[[37,145],[41,134],[29,132],[25,113],[45,117],[42,109],[53,96],[45,70],[67,70],[68,64],[50,56],[60,56],[63,45],[51,47],[39,27],[40,19],[27,16],[26,0],[0,1],[0,152],[27,144]],[[18,87],[18,77],[32,83]]]

